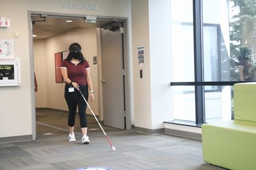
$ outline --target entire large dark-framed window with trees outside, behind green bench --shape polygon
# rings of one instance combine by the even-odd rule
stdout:
[[[171,3],[172,82],[180,83],[173,85],[174,119],[196,123],[232,120],[230,83],[256,81],[256,1],[202,0],[200,8],[193,6],[195,2],[200,4],[198,0]],[[193,10],[198,9],[202,27],[195,24],[200,15],[195,16]],[[194,29],[202,30],[199,59]],[[199,91],[198,86],[202,87]],[[203,109],[196,110],[198,106]]]

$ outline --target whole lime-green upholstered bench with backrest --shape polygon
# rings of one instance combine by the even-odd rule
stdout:
[[[234,85],[234,120],[202,125],[205,162],[256,170],[256,83]]]

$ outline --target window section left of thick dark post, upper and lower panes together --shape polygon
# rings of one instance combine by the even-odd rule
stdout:
[[[171,7],[173,81],[194,82],[193,1],[175,0]],[[173,87],[173,101],[175,120],[195,121],[194,86]]]

